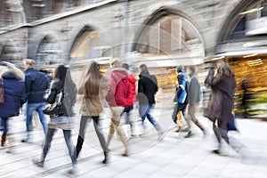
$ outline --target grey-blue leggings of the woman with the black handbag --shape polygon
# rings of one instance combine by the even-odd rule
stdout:
[[[51,147],[51,142],[53,140],[53,135],[55,133],[56,129],[55,128],[48,128],[45,136],[45,142],[44,142],[44,147],[43,147],[43,152],[42,156],[40,158],[40,162],[44,163],[44,160],[46,158],[46,155],[48,151],[50,150]],[[67,144],[67,147],[69,149],[69,157],[71,158],[72,165],[75,166],[77,164],[77,157],[76,157],[76,150],[71,142],[71,130],[62,130],[65,138],[65,142]]]

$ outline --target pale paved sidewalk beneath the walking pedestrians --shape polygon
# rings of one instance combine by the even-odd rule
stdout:
[[[150,123],[146,123],[147,134],[129,140],[131,155],[128,158],[120,156],[123,147],[115,136],[110,145],[107,166],[101,164],[103,156],[91,123],[87,127],[85,146],[78,159],[78,172],[72,177],[266,177],[267,122],[238,119],[240,134],[231,135],[247,145],[248,158],[243,160],[226,144],[223,156],[211,153],[216,146],[214,134],[211,123],[204,117],[200,117],[200,122],[208,130],[206,138],[197,127],[193,127],[194,135],[184,139],[186,133],[174,132],[171,112],[172,109],[168,106],[155,109],[154,115],[165,130],[164,139],[158,141],[157,132],[150,127]],[[33,142],[22,143],[20,140],[25,129],[23,117],[13,118],[12,121],[15,146],[12,147],[12,154],[6,153],[4,149],[0,150],[0,177],[71,177],[66,174],[70,167],[70,158],[61,132],[55,134],[44,168],[39,168],[32,165],[31,158],[41,153],[43,131],[37,127]],[[79,117],[75,121],[74,143],[77,140]],[[105,135],[108,125],[109,119],[104,119],[102,129]]]

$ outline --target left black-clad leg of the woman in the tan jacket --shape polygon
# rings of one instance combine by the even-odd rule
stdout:
[[[87,126],[87,121],[89,117],[82,116],[80,121],[80,127],[79,127],[79,134],[77,137],[77,145],[76,145],[76,153],[77,157],[80,153],[80,150],[82,150],[84,141],[85,141],[85,128]]]

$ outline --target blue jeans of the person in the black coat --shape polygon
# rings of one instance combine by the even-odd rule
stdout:
[[[156,128],[156,130],[158,132],[161,132],[161,128],[158,125],[158,122],[150,114],[150,109],[153,109],[153,108],[154,108],[153,104],[139,105],[139,115],[140,117],[142,117],[142,125],[143,125],[145,118],[147,117],[150,123]]]

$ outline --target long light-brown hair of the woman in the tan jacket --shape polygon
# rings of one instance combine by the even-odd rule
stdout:
[[[101,71],[100,65],[93,61],[90,66],[85,70],[85,98],[92,98],[98,96],[100,93],[100,84],[101,84]]]

